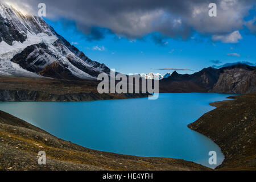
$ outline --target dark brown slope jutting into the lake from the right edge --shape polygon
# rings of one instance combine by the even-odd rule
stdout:
[[[217,102],[188,127],[212,139],[225,155],[222,170],[256,169],[256,93]]]

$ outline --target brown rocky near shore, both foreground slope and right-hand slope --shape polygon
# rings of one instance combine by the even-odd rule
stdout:
[[[217,169],[255,169],[255,95],[232,96],[236,100],[214,102],[210,105],[217,109],[188,125],[221,147],[225,160]],[[238,114],[235,118],[234,113]],[[247,131],[250,133],[245,133]],[[90,150],[56,138],[2,111],[0,149],[2,170],[211,170],[180,159],[143,158]],[[47,152],[46,166],[37,163],[40,150]]]

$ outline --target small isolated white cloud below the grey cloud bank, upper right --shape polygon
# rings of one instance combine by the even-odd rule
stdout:
[[[226,34],[226,35],[212,36],[213,41],[221,41],[222,43],[238,43],[238,40],[241,40],[241,39],[242,39],[242,36],[238,30],[233,31],[232,33]]]

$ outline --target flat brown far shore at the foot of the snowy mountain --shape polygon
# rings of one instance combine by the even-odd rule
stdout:
[[[0,77],[0,101],[94,101],[147,97],[148,94],[99,94],[98,81]]]

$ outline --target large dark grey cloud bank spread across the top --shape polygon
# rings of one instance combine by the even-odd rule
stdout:
[[[1,0],[0,0],[1,1]],[[7,0],[6,0],[7,1]],[[243,28],[243,19],[255,1],[236,0],[8,0],[36,13],[38,3],[47,7],[47,18],[75,20],[77,28],[89,35],[88,40],[102,39],[108,32],[129,39],[142,38],[152,32],[169,38],[186,40],[192,31],[202,35],[225,36]],[[217,17],[209,17],[208,5],[217,4]],[[94,28],[93,28],[94,27]],[[253,22],[247,23],[250,30]],[[225,39],[225,38],[223,38]],[[162,43],[155,39],[156,43]]]

